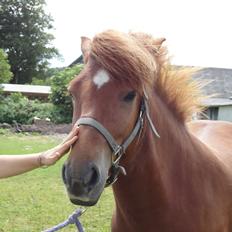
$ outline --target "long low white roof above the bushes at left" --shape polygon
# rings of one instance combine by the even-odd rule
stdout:
[[[22,93],[30,96],[48,96],[51,93],[50,86],[0,84],[0,87],[3,87],[6,93]]]

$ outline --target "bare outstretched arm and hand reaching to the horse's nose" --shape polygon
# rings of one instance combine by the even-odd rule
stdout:
[[[74,126],[63,143],[48,151],[28,155],[0,155],[0,178],[19,175],[41,166],[55,164],[76,142],[77,135],[78,127]]]

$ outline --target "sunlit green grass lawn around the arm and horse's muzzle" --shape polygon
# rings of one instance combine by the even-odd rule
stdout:
[[[0,135],[0,154],[32,153],[53,147],[60,139],[40,135]],[[0,180],[0,232],[36,232],[64,220],[77,208],[61,180],[63,158],[47,169]],[[108,232],[114,208],[113,194],[105,189],[99,203],[88,208],[81,222],[86,232]],[[61,231],[76,231],[73,225]]]

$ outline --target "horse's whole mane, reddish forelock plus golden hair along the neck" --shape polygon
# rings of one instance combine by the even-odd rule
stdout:
[[[126,80],[141,94],[144,88],[155,88],[184,122],[202,109],[201,85],[192,79],[196,69],[170,65],[162,41],[144,33],[109,30],[94,37],[90,55],[114,78]]]

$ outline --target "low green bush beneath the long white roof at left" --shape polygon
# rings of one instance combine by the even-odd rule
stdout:
[[[0,123],[12,124],[14,121],[31,124],[33,118],[41,119],[53,117],[54,106],[38,100],[29,100],[19,93],[11,94],[0,102]]]

